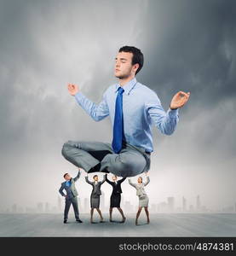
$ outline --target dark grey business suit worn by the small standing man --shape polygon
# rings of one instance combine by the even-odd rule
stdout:
[[[78,213],[78,191],[75,187],[75,182],[78,180],[78,178],[80,177],[80,173],[78,172],[77,177],[72,177],[70,179],[71,185],[68,187],[66,186],[66,182],[61,183],[59,192],[60,195],[62,196],[66,196],[66,204],[65,204],[65,210],[64,210],[64,219],[67,220],[68,218],[68,212],[70,210],[71,204],[73,206],[74,209],[74,213],[75,213],[75,218],[78,220],[79,219],[79,213]],[[66,195],[64,194],[63,190],[66,190]]]

